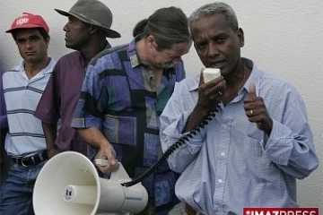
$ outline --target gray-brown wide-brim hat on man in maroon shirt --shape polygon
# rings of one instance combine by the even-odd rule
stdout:
[[[65,16],[74,16],[82,22],[89,23],[106,32],[107,38],[120,38],[116,30],[111,30],[112,13],[109,8],[97,0],[78,0],[69,12],[55,9]]]

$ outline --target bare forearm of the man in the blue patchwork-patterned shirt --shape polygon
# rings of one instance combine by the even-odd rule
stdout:
[[[79,128],[78,132],[85,142],[97,149],[100,149],[103,144],[110,144],[97,127]]]

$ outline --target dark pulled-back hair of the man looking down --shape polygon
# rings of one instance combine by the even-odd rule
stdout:
[[[174,44],[187,42],[191,39],[188,17],[177,7],[161,8],[148,17],[143,28],[144,38],[150,35],[160,49],[170,49]]]

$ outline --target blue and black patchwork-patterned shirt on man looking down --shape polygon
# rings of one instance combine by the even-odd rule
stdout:
[[[156,90],[152,69],[136,53],[136,39],[92,60],[72,123],[76,128],[99,127],[130,177],[142,175],[161,156],[159,116],[175,82],[185,77],[180,62],[164,70]],[[165,214],[178,202],[174,192],[176,179],[165,161],[144,180],[150,202],[161,206],[156,208],[156,214]]]

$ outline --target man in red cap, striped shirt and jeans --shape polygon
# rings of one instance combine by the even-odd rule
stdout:
[[[9,133],[4,147],[12,158],[0,190],[0,214],[34,214],[32,190],[48,159],[41,121],[33,116],[56,64],[48,57],[48,25],[37,14],[22,13],[5,32],[11,33],[22,62],[3,75]]]

